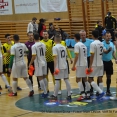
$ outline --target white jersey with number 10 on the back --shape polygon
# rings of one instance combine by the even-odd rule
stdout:
[[[56,44],[53,47],[53,56],[57,56],[57,68],[58,69],[66,69],[67,68],[67,52],[66,48],[61,44]]]

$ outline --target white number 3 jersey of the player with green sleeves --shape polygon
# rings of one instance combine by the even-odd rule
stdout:
[[[16,43],[11,47],[11,55],[14,55],[14,63],[24,61],[24,52],[28,51],[23,43]]]

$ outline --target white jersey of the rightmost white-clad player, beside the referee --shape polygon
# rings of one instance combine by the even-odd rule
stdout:
[[[102,66],[103,44],[99,40],[95,40],[90,45],[90,53],[94,53],[92,66]]]

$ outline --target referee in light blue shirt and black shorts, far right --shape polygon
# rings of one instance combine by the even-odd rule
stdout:
[[[114,57],[115,62],[117,64],[117,57],[116,57],[116,49],[114,44],[110,41],[111,39],[111,33],[106,32],[105,34],[105,40],[102,42],[104,46],[104,54],[102,56],[103,64],[104,64],[104,71],[106,72],[106,95],[111,96],[110,92],[110,85],[111,85],[111,75],[113,75],[113,63],[112,63],[112,57]]]

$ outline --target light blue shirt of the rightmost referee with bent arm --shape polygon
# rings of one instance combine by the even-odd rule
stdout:
[[[103,55],[102,55],[102,60],[103,61],[110,61],[112,59],[112,54],[113,54],[113,51],[114,51],[114,44],[112,42],[107,44],[106,41],[103,41],[102,43],[103,43],[104,48],[106,50],[108,50],[109,47],[112,47],[112,50],[108,54],[103,53]]]

